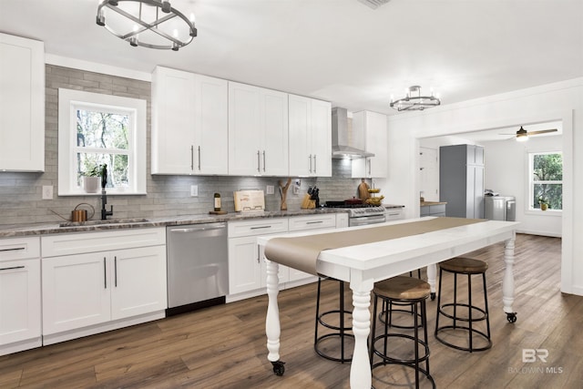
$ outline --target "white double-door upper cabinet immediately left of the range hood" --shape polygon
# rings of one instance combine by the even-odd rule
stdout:
[[[332,106],[289,95],[290,175],[332,176]]]

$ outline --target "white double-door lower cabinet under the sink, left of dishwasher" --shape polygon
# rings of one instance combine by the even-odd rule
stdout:
[[[44,255],[67,251],[42,260],[45,344],[164,317],[164,229],[55,235],[42,245]]]

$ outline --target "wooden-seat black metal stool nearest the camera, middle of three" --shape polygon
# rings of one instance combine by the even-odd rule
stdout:
[[[402,326],[401,329],[394,328],[389,324],[389,310],[385,310],[384,333],[376,335],[376,320],[373,320],[370,344],[373,380],[375,378],[374,369],[389,364],[398,364],[414,369],[415,388],[419,388],[420,374],[424,374],[428,382],[435,388],[434,378],[429,372],[429,345],[427,343],[427,314],[425,308],[425,300],[430,294],[431,288],[429,284],[413,277],[397,276],[374,284],[373,318],[377,317],[379,300],[387,306],[391,306],[392,303],[398,303],[401,306],[410,305],[413,309],[413,314],[411,315],[413,317],[413,325]],[[405,333],[403,328],[407,328],[409,331],[413,330],[413,336]],[[420,328],[423,328],[423,339],[419,337]],[[389,332],[390,329],[391,333]],[[411,348],[408,347],[409,341],[414,343]],[[398,349],[400,351],[403,350],[403,355],[395,355],[396,343],[400,343]],[[389,348],[392,349],[391,353],[389,353]],[[380,362],[374,363],[375,355],[381,357]],[[424,368],[420,365],[423,362],[425,364]]]

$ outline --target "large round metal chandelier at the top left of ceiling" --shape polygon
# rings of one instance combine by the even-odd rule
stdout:
[[[96,22],[130,46],[178,51],[197,36],[194,15],[187,18],[167,0],[103,0]]]

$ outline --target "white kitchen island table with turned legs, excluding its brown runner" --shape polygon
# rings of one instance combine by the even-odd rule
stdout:
[[[435,218],[424,218],[430,220]],[[452,219],[452,218],[443,218]],[[421,219],[399,220],[373,226],[363,226],[352,230],[375,229],[385,225],[423,223]],[[386,280],[407,271],[428,266],[428,278],[432,289],[435,288],[435,264],[466,252],[475,251],[496,242],[505,242],[506,271],[503,282],[504,312],[509,322],[516,321],[512,310],[514,302],[514,242],[517,222],[487,220],[459,227],[432,230],[421,234],[411,234],[393,240],[379,240],[321,251],[317,256],[315,268],[318,274],[350,282],[353,291],[353,334],[354,351],[351,365],[350,384],[352,388],[370,388],[371,368],[368,358],[367,338],[370,333],[370,302],[374,282]],[[328,233],[343,233],[344,230]],[[325,232],[316,232],[316,236]],[[313,234],[313,233],[312,233]],[[288,238],[305,237],[308,234],[288,235]],[[266,247],[275,236],[258,239]],[[302,247],[298,246],[299,249]],[[266,316],[268,360],[273,364],[275,374],[283,374],[280,360],[280,320],[277,302],[279,263],[267,260],[267,292],[269,296]],[[290,266],[290,262],[286,262]]]

